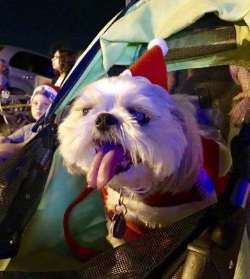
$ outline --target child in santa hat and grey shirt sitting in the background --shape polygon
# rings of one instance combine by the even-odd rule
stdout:
[[[45,114],[47,108],[54,101],[59,87],[52,84],[43,84],[38,86],[31,96],[31,114],[35,121]],[[29,123],[8,137],[0,137],[0,163],[6,160],[10,155],[22,149],[22,147],[31,140],[36,133],[32,128],[36,122]]]

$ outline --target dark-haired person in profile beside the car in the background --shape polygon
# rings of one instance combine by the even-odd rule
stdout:
[[[56,50],[52,57],[52,68],[56,74],[52,79],[52,84],[61,87],[74,64],[75,55],[70,50],[63,47]]]

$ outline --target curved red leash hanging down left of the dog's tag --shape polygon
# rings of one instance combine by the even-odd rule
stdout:
[[[75,201],[72,202],[70,206],[68,206],[68,209],[66,209],[63,216],[63,229],[64,229],[65,241],[68,244],[68,246],[70,246],[72,251],[75,252],[75,254],[78,257],[84,260],[84,262],[87,262],[89,259],[92,259],[93,257],[99,255],[103,251],[84,248],[83,246],[79,245],[76,241],[72,239],[72,236],[70,235],[69,216],[72,209],[74,209],[74,207],[77,204],[79,204],[79,202],[81,202],[83,199],[85,199],[85,197],[87,197],[88,194],[90,194],[93,190],[94,188],[90,188],[90,187],[84,188],[84,190],[82,190],[82,192],[75,199]]]

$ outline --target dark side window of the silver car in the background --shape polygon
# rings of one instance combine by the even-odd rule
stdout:
[[[10,59],[10,66],[44,75],[45,77],[53,77],[52,61],[49,58],[31,54],[29,52],[17,52]]]

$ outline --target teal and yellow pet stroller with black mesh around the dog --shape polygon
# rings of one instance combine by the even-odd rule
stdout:
[[[247,278],[249,251],[245,244],[247,231],[244,229],[244,210],[241,208],[246,201],[244,199],[237,203],[231,200],[234,206],[229,201],[235,185],[242,189],[241,182],[249,181],[249,172],[245,169],[249,166],[249,160],[244,159],[244,165],[239,166],[238,160],[233,158],[234,172],[225,191],[226,195],[218,192],[221,199],[224,198],[224,204],[214,204],[194,216],[114,249],[105,240],[107,231],[101,197],[94,190],[75,207],[69,222],[72,238],[77,243],[89,249],[105,251],[84,264],[65,243],[63,214],[86,186],[86,181],[84,176],[72,176],[66,172],[57,150],[52,162],[56,144],[56,141],[52,141],[52,127],[54,114],[59,115],[83,86],[107,76],[108,71],[114,74],[119,72],[119,68],[130,65],[146,50],[146,43],[158,37],[166,38],[169,45],[169,54],[166,55],[171,80],[169,91],[189,94],[198,107],[197,118],[205,135],[229,146],[241,125],[235,124],[228,113],[231,112],[232,104],[235,105],[233,98],[243,91],[240,83],[243,77],[238,76],[236,80],[231,65],[243,68],[242,75],[247,77],[250,70],[249,24],[249,3],[242,0],[235,0],[231,4],[222,0],[217,3],[197,0],[189,3],[185,0],[134,1],[116,20],[107,24],[109,29],[105,27],[98,34],[72,69],[47,113],[45,129],[17,156],[1,165],[3,190],[0,193],[3,198],[0,202],[4,204],[4,210],[1,211],[3,248],[0,254],[3,260],[0,261],[0,267],[5,271],[0,273],[0,278],[180,278],[184,276],[183,269],[192,278],[188,266],[184,264],[189,243],[192,243],[189,255],[190,252],[198,252],[198,249],[194,251],[198,244],[204,248],[203,251],[207,249],[203,262],[210,264],[203,266],[203,278]],[[232,144],[234,149],[241,149],[245,156],[249,153],[247,120],[242,130]],[[40,142],[42,150],[49,150],[49,160],[40,160],[44,151],[38,155],[33,153]],[[32,153],[32,160],[38,164],[38,169],[42,166],[38,175],[34,174],[32,160],[27,159],[31,156],[28,151]],[[26,160],[21,162],[20,158],[26,153]],[[14,170],[9,172],[9,169]],[[35,183],[27,179],[27,174],[31,178],[36,175],[38,191],[32,187]],[[11,184],[6,175],[18,177],[22,183]],[[6,181],[12,186],[10,194],[6,193]],[[246,186],[244,197],[248,195],[247,191]],[[238,197],[237,193],[235,196]],[[32,206],[29,201],[32,201]],[[9,227],[11,232],[8,232]],[[213,232],[223,232],[223,245],[215,239],[212,244],[209,242]],[[228,238],[232,232],[233,238]],[[198,244],[195,242],[201,234],[207,236],[209,243],[204,244],[203,239],[198,240]],[[166,239],[173,239],[173,242],[166,245]],[[13,250],[10,247],[14,247]],[[3,255],[3,249],[7,251],[6,255]],[[17,256],[13,257],[15,254]],[[8,257],[13,258],[4,259]]]

